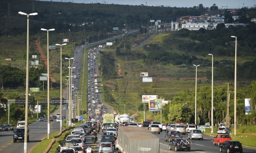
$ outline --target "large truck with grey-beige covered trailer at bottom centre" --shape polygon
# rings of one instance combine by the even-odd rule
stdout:
[[[141,127],[119,127],[115,153],[159,153],[160,139]]]

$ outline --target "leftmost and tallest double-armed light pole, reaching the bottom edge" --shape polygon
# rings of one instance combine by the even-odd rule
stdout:
[[[29,112],[29,15],[37,15],[38,13],[26,14],[18,12],[19,14],[27,16],[27,52],[26,52],[26,104],[25,104],[25,134],[24,134],[24,153],[27,153],[27,135],[28,135],[28,112]]]

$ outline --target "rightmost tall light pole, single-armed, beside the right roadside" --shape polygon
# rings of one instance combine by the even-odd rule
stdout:
[[[236,36],[231,36],[231,37],[236,38]],[[236,52],[236,49],[235,49],[235,52]],[[236,54],[235,54],[235,91],[234,91],[234,135],[236,136]]]

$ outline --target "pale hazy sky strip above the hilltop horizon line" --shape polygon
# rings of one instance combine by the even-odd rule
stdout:
[[[51,1],[51,0],[41,0]],[[73,2],[73,3],[104,3],[125,4],[125,5],[148,5],[148,6],[171,6],[171,7],[193,7],[203,4],[204,7],[211,7],[216,4],[218,8],[251,8],[256,5],[256,0],[52,0],[54,2]]]

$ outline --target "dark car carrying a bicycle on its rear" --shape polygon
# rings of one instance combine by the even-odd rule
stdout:
[[[173,139],[170,144],[169,144],[169,150],[174,149],[175,151],[178,150],[187,150],[190,151],[190,142],[187,139],[182,139],[182,138],[175,138]]]

